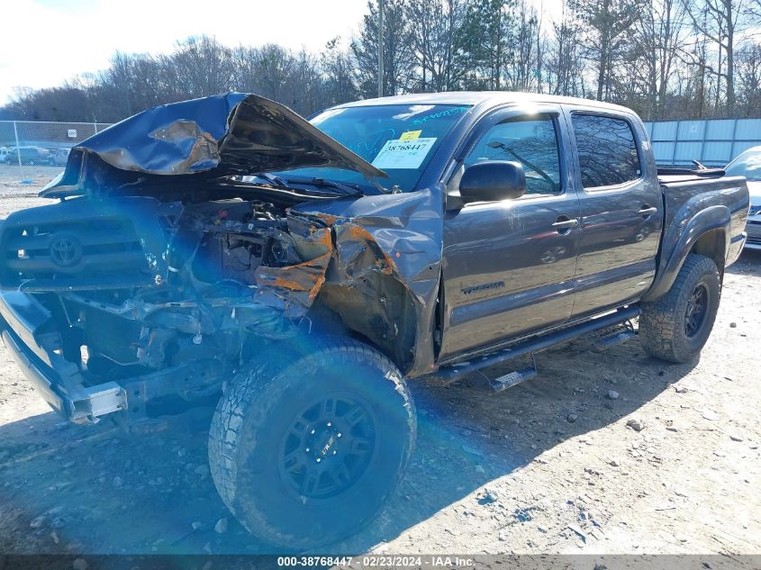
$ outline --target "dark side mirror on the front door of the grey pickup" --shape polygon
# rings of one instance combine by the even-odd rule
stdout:
[[[459,190],[464,203],[520,198],[526,193],[526,174],[518,162],[478,162],[465,169]]]

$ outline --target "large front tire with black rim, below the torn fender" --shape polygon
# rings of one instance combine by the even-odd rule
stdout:
[[[300,551],[346,538],[376,515],[401,480],[415,431],[394,364],[336,339],[241,371],[214,412],[209,461],[222,501],[249,532]]]

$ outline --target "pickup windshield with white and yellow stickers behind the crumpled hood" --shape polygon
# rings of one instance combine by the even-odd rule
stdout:
[[[470,107],[396,104],[329,109],[310,121],[347,149],[380,168],[388,188],[412,190],[441,141]],[[289,178],[324,178],[372,188],[364,176],[343,168],[306,167],[273,173]]]

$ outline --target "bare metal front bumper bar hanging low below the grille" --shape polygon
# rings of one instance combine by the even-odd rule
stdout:
[[[32,295],[0,292],[0,317],[5,348],[53,410],[74,423],[96,423],[126,410],[121,385],[86,386],[79,366],[59,354],[61,333],[51,328],[52,315]]]

